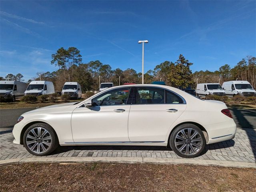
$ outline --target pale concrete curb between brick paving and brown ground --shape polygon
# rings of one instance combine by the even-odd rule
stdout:
[[[222,160],[196,160],[186,158],[148,158],[148,157],[31,157],[0,160],[0,166],[22,163],[150,163],[150,164],[187,164],[200,166],[222,166],[235,168],[256,168],[256,163]]]

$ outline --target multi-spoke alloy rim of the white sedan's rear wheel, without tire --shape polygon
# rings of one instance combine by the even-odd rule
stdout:
[[[184,128],[176,134],[174,144],[180,153],[191,156],[200,151],[203,145],[203,138],[197,130]]]

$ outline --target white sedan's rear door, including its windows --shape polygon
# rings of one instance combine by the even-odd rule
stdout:
[[[130,108],[128,133],[131,142],[164,142],[186,101],[169,90],[138,87]]]

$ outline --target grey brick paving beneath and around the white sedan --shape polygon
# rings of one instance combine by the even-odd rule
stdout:
[[[11,131],[0,132],[0,160],[36,157],[14,144]],[[155,157],[180,158],[170,148],[156,146],[63,146],[46,157]],[[44,158],[44,157],[41,157]],[[256,130],[238,129],[232,140],[206,145],[194,159],[256,162]]]

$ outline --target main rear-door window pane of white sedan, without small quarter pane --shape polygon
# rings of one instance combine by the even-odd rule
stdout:
[[[164,103],[164,89],[138,88],[136,104],[160,104]]]

